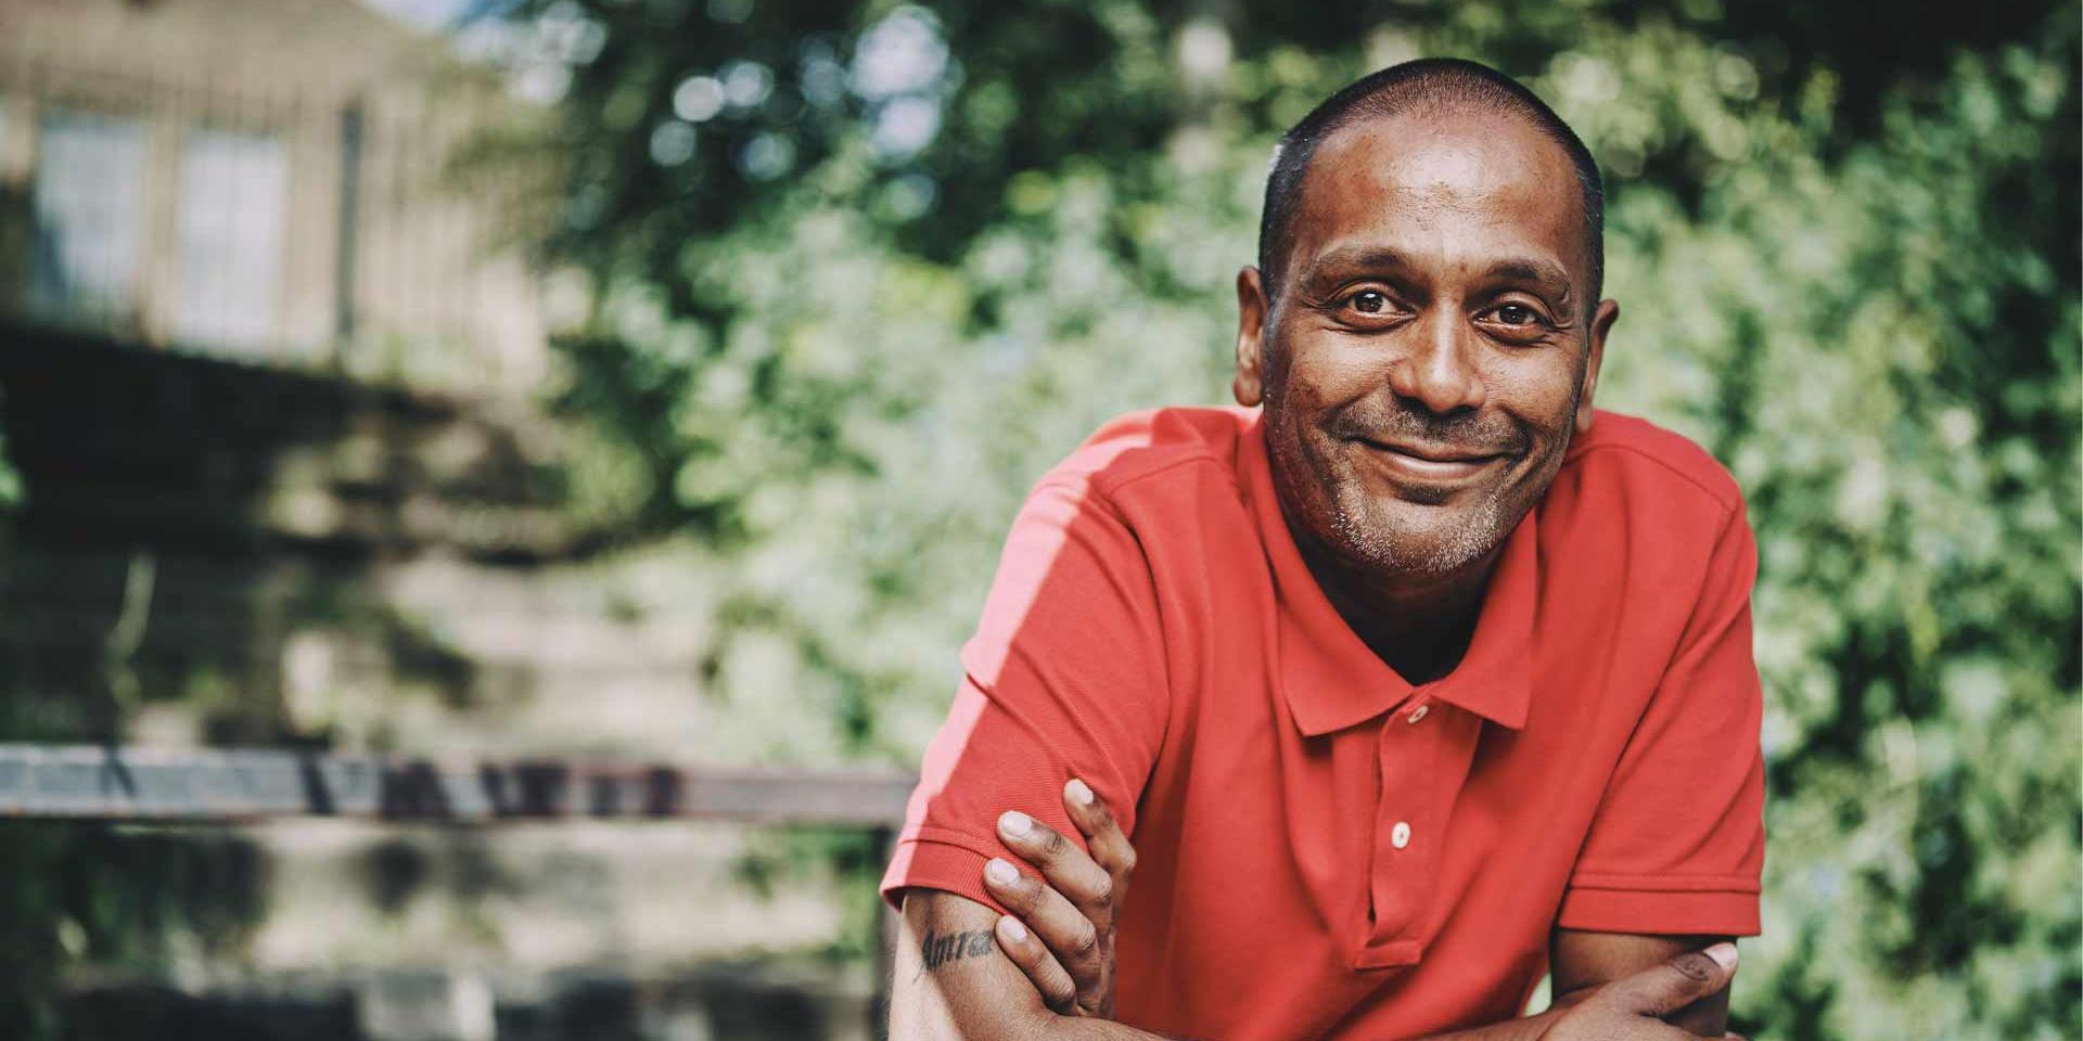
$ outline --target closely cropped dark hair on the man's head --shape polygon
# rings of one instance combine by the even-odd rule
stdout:
[[[1596,306],[1606,281],[1606,185],[1600,181],[1598,160],[1548,102],[1516,79],[1462,58],[1419,58],[1371,73],[1327,98],[1281,135],[1279,148],[1273,150],[1273,171],[1266,175],[1266,206],[1258,217],[1258,271],[1266,296],[1279,298],[1279,279],[1294,248],[1302,179],[1323,139],[1360,119],[1391,117],[1419,106],[1475,106],[1519,117],[1562,146],[1571,167],[1577,169],[1577,187],[1583,194],[1585,244],[1591,252],[1589,304]]]

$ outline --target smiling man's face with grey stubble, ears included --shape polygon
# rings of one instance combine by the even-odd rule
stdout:
[[[1277,304],[1237,275],[1235,375],[1289,525],[1371,575],[1464,573],[1591,425],[1618,306],[1585,300],[1568,156],[1487,112],[1364,119],[1319,146],[1291,242]]]

